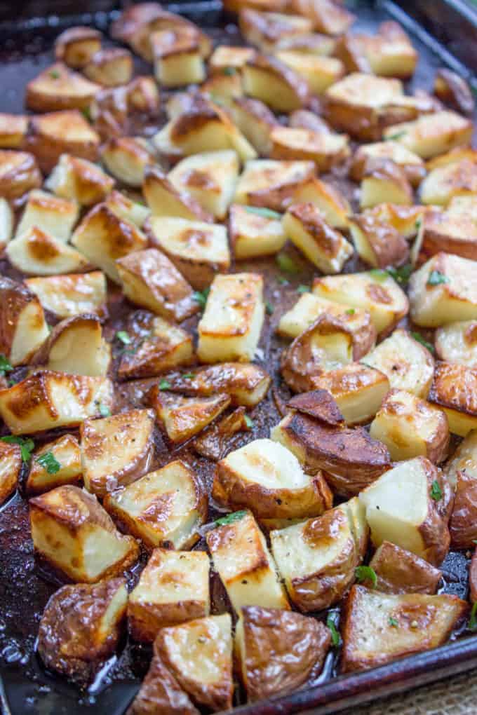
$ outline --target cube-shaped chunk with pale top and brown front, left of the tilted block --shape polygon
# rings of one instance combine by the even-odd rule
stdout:
[[[164,626],[208,616],[209,568],[205,551],[154,548],[127,604],[134,640],[152,643]]]

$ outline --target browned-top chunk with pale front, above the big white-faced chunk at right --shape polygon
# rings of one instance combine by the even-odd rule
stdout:
[[[447,456],[446,414],[405,390],[390,390],[386,395],[370,435],[386,445],[395,461],[422,455],[438,464]]]

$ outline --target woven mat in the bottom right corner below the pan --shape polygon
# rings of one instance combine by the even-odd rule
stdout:
[[[343,715],[477,715],[477,672],[348,709]]]

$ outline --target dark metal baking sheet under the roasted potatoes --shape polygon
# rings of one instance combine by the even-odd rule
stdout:
[[[471,68],[477,67],[477,19],[463,0],[357,0],[348,3],[358,14],[356,29],[373,30],[383,20],[395,18],[410,32],[420,53],[412,87],[430,90],[438,66],[447,64],[477,87]],[[51,44],[58,33],[73,24],[92,24],[106,30],[117,16],[120,3],[89,2],[89,11],[77,14],[74,0],[40,0],[18,4],[0,1],[0,87],[2,112],[22,112],[24,85],[51,61]],[[219,0],[174,3],[215,36],[236,35],[233,19],[222,14]],[[267,263],[255,265],[267,271]],[[0,269],[1,270],[1,269]],[[298,284],[309,282],[310,267],[297,276]],[[267,280],[267,297],[275,290]],[[290,295],[282,300],[293,300]],[[296,296],[295,296],[296,297]],[[267,349],[269,346],[267,338]],[[272,345],[270,359],[277,359]],[[270,351],[269,351],[270,352]],[[275,421],[270,406],[263,408],[260,435]],[[443,566],[443,592],[467,596],[468,556],[451,553]],[[21,587],[19,583],[21,581]],[[88,692],[79,693],[65,681],[46,674],[34,651],[41,610],[55,586],[42,578],[32,556],[27,510],[19,496],[0,509],[0,704],[8,715],[122,715],[134,697],[140,674],[147,667],[148,649],[126,647],[112,660],[104,678]],[[9,608],[6,608],[6,604]],[[380,696],[477,667],[477,636],[463,635],[450,644],[425,654],[396,661],[373,671],[348,676],[335,675],[332,654],[320,677],[290,696],[252,706],[239,706],[242,715],[328,714]]]

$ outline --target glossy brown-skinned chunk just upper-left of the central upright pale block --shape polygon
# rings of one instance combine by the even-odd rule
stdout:
[[[119,258],[116,268],[124,295],[134,304],[179,322],[199,310],[192,287],[161,251],[134,251]]]

